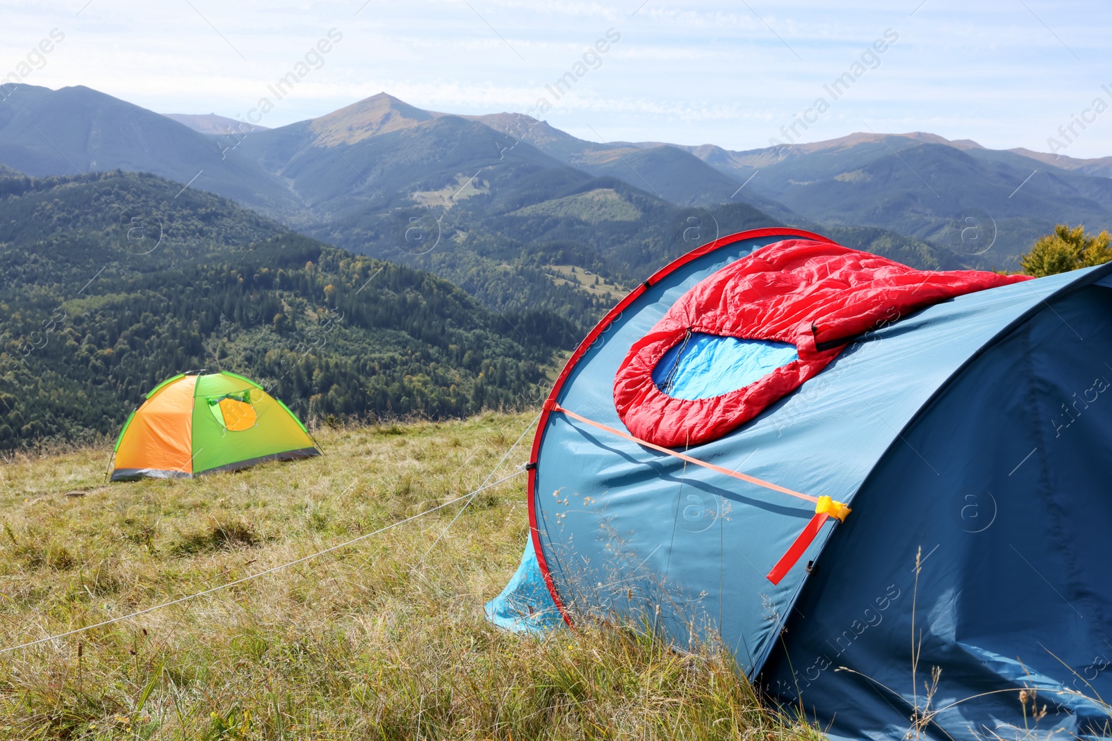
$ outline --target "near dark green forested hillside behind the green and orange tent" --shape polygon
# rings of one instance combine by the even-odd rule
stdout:
[[[520,407],[580,330],[153,176],[0,176],[0,448],[112,433],[198,368],[302,418]]]

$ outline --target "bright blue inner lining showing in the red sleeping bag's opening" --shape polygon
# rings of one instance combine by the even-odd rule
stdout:
[[[796,360],[795,346],[693,332],[653,369],[653,382],[676,399],[707,399],[753,383]]]

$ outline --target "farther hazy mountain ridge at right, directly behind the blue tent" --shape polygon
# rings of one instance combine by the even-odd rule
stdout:
[[[520,117],[479,118],[503,130],[513,126],[568,163],[676,202],[745,200],[793,226],[880,227],[999,269],[1014,269],[1019,256],[1055,223],[1112,226],[1112,158],[992,150],[923,132],[854,133],[747,151],[598,144],[532,119],[523,126],[515,120]]]

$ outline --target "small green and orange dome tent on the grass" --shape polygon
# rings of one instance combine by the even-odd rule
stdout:
[[[286,404],[227,371],[162,381],[123,423],[112,481],[178,479],[319,455]]]

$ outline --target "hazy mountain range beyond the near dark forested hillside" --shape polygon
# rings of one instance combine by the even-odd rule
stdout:
[[[386,93],[265,129],[21,84],[0,107],[0,163],[37,177],[150,172],[431,270],[492,310],[577,321],[608,299],[567,284],[568,266],[618,291],[738,224],[836,232],[915,267],[1014,269],[1055,223],[1101,229],[1112,207],[1112,158],[927,133],[747,151],[592,142],[524,114],[454,116]]]

